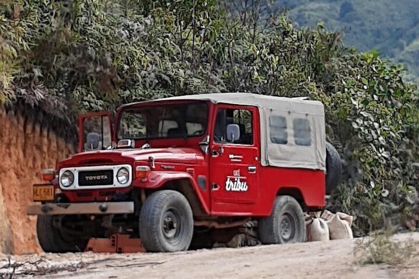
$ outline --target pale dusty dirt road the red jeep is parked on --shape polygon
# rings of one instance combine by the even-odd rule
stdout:
[[[419,233],[397,236],[419,240]],[[41,254],[1,256],[0,278],[418,278],[419,256],[399,267],[354,263],[355,240],[218,248],[171,254]],[[24,264],[27,262],[26,264]],[[416,264],[415,264],[416,263]],[[23,265],[22,265],[23,264]],[[31,275],[32,271],[32,275]],[[26,275],[24,275],[24,273]],[[44,273],[44,275],[42,275]]]

